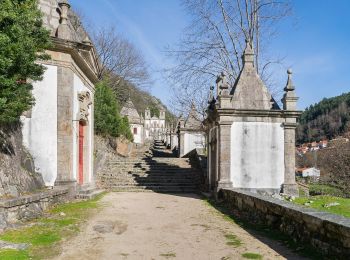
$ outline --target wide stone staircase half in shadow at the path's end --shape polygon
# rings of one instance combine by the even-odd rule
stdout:
[[[98,175],[99,186],[118,191],[196,192],[200,172],[187,158],[175,158],[161,141],[143,156],[108,162]]]

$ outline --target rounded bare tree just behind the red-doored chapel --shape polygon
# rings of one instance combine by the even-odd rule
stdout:
[[[150,83],[150,74],[142,54],[114,27],[101,28],[93,33],[94,43],[101,62],[100,79],[111,79],[112,87],[122,81],[138,87]]]

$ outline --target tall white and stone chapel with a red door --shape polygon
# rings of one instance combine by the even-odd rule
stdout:
[[[99,65],[89,36],[67,0],[40,0],[50,30],[50,60],[34,82],[35,105],[22,116],[24,145],[47,186],[94,182],[94,84]]]

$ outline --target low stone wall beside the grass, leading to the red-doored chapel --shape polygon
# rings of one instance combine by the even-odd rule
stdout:
[[[12,199],[0,200],[0,232],[23,220],[31,220],[54,204],[64,202],[67,188],[55,188]]]

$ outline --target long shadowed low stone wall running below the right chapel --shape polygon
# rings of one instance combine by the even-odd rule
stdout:
[[[331,259],[350,259],[350,219],[259,194],[225,189],[225,204],[249,222],[268,225]]]

